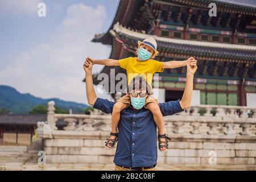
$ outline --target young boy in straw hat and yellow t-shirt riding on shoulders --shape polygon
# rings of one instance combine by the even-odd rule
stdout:
[[[121,68],[126,69],[127,71],[127,84],[129,85],[130,81],[135,76],[143,76],[149,85],[152,84],[152,77],[156,72],[163,72],[164,68],[178,68],[184,67],[187,64],[196,65],[196,60],[193,57],[190,57],[188,60],[184,61],[168,61],[168,62],[159,62],[153,60],[155,56],[158,55],[156,50],[157,44],[154,38],[149,37],[144,39],[143,42],[138,41],[137,55],[138,57],[128,57],[121,60],[113,59],[103,59],[103,60],[93,60],[90,57],[86,58],[85,65],[89,64],[87,61],[92,62],[93,64],[102,64],[106,66],[120,66]],[[151,86],[152,88],[152,86]],[[112,131],[110,137],[106,142],[105,148],[112,149],[114,144],[117,142],[118,138],[118,122],[120,119],[120,113],[123,109],[128,107],[131,104],[130,97],[128,94],[120,98],[113,107],[112,112]],[[135,106],[136,107],[136,106]],[[159,108],[158,100],[152,97],[150,94],[146,98],[146,103],[144,105],[146,109],[150,110],[153,114],[154,121],[158,127],[158,140],[159,140],[159,150],[160,152],[166,152],[168,148],[166,134],[164,133],[164,119],[163,115]],[[138,109],[138,108],[135,108]]]

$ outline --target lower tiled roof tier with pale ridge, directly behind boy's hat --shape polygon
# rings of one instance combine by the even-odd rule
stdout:
[[[152,36],[128,30],[118,24],[114,26],[112,35],[122,40],[126,46],[132,46],[134,49],[138,46],[138,40],[142,41],[147,36]],[[221,59],[256,61],[256,46],[153,37],[158,43],[158,51],[160,53],[170,52],[190,56],[197,55]]]

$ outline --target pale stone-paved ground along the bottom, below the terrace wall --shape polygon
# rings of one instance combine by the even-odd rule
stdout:
[[[39,156],[36,153],[27,153],[26,147],[0,146],[0,171],[1,170],[76,170],[76,171],[112,171],[114,164],[46,164],[37,163]],[[256,165],[158,165],[156,171],[176,170],[256,170]]]

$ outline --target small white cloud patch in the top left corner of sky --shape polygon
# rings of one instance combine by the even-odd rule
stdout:
[[[7,0],[0,1],[0,12],[11,15],[31,14],[38,12],[38,4],[44,2],[42,0]]]

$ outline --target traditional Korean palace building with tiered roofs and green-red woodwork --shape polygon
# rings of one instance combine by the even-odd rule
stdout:
[[[209,16],[210,3],[217,16]],[[148,36],[158,43],[155,60],[197,59],[193,104],[256,106],[254,0],[121,0],[109,30],[92,41],[112,46],[110,59],[122,59],[136,56],[137,41]],[[101,73],[110,69],[126,73]],[[185,76],[186,67],[160,73],[159,100],[181,98]]]

